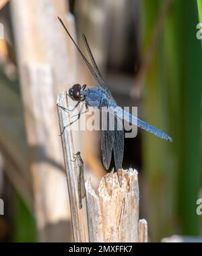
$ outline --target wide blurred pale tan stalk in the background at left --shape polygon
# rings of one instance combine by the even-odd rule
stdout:
[[[70,211],[55,99],[75,80],[75,49],[57,20],[61,0],[13,0],[11,18],[20,68],[32,183],[42,241],[71,240]],[[67,24],[74,34],[70,14]],[[67,43],[68,42],[68,43]],[[75,138],[75,142],[79,136]]]

